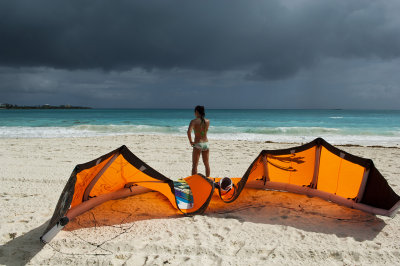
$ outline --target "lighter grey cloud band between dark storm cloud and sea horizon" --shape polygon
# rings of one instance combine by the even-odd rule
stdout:
[[[399,68],[400,59],[329,58],[293,78],[265,81],[248,80],[248,72],[239,70],[216,74],[3,67],[0,80],[9,82],[0,83],[0,102],[111,108],[192,108],[201,103],[208,108],[398,109]],[[13,84],[16,73],[19,81]]]

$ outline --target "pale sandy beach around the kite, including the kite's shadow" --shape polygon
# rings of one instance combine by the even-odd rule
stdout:
[[[374,216],[315,197],[261,190],[245,190],[231,204],[214,197],[203,215],[193,217],[179,215],[156,192],[110,201],[41,244],[75,165],[123,144],[167,177],[190,175],[184,137],[0,139],[0,264],[400,264],[400,213]],[[296,145],[211,140],[211,176],[241,177],[262,149]],[[338,147],[373,159],[400,194],[399,148]]]

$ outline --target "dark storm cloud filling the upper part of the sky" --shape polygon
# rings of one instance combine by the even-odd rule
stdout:
[[[0,64],[246,70],[280,80],[324,58],[400,56],[399,1],[0,2]],[[251,70],[251,71],[249,71]]]

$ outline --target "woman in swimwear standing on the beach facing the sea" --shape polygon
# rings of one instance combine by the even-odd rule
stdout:
[[[206,176],[210,176],[209,153],[207,131],[210,126],[210,120],[205,119],[204,106],[196,106],[194,109],[195,119],[190,121],[187,135],[190,146],[193,147],[192,153],[192,175],[197,174],[197,166],[199,164],[200,154],[203,158],[204,166],[206,167]],[[194,141],[192,141],[192,130],[194,131]]]

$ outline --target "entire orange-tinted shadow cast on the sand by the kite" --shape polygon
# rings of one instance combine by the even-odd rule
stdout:
[[[223,203],[215,194],[204,215],[240,222],[289,226],[308,232],[352,237],[356,241],[373,240],[386,225],[375,215],[319,198],[253,189],[243,190],[242,195],[230,204]],[[105,202],[70,221],[64,230],[74,233],[82,228],[110,226],[119,228],[119,234],[122,234],[128,228],[123,225],[135,221],[181,217],[164,196],[151,192]],[[1,246],[0,264],[28,263],[44,247],[39,238],[46,225],[47,222]],[[101,245],[96,249],[99,251]]]

